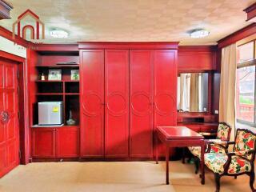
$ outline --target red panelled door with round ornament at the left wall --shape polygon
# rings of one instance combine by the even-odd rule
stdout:
[[[19,164],[17,68],[0,61],[0,177]]]

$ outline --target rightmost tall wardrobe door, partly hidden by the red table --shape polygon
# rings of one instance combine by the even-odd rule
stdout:
[[[177,50],[154,50],[154,127],[176,125],[176,62]]]

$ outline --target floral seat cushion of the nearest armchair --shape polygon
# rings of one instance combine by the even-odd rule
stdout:
[[[205,164],[214,173],[222,174],[224,172],[224,165],[228,157],[226,154],[209,153],[205,154]],[[244,172],[250,172],[250,162],[240,158],[239,156],[232,156],[230,167],[228,169],[229,174],[241,174]]]

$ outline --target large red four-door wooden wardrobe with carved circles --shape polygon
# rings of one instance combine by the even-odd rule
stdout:
[[[81,157],[153,158],[176,125],[178,43],[80,43]]]

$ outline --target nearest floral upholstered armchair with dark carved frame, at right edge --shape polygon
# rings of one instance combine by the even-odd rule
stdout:
[[[206,166],[214,172],[216,191],[220,190],[220,178],[224,175],[234,176],[235,178],[241,174],[250,176],[250,188],[254,190],[254,159],[256,150],[256,134],[250,130],[238,129],[235,142],[215,143],[218,147],[223,147],[223,143],[227,146],[234,144],[233,152],[228,153],[208,153],[205,154]],[[222,144],[222,145],[220,145]]]

